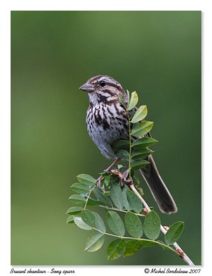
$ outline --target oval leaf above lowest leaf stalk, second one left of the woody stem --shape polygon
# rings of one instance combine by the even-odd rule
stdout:
[[[137,215],[131,212],[127,212],[125,215],[125,226],[127,232],[131,237],[141,237],[143,230],[142,230],[142,223]]]

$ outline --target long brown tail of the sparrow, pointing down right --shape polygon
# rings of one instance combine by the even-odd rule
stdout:
[[[167,189],[164,181],[162,181],[162,178],[160,177],[156,164],[151,155],[149,155],[148,161],[149,164],[140,169],[140,172],[147,182],[154,199],[156,200],[162,213],[176,213],[178,210],[176,203],[169,193],[169,190]]]

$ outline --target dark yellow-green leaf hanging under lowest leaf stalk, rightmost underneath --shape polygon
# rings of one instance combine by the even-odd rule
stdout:
[[[124,257],[134,255],[138,252],[138,250],[150,247],[150,246],[156,246],[157,244],[153,241],[136,241],[136,240],[130,240],[125,243],[125,253]]]

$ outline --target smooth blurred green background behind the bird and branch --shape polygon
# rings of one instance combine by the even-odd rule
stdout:
[[[87,134],[78,90],[99,74],[147,104],[154,158],[178,205],[160,217],[185,221],[179,244],[201,264],[201,12],[13,11],[11,22],[11,264],[184,264],[161,248],[107,262],[106,245],[85,252],[89,231],[65,223],[76,175],[110,164]]]

